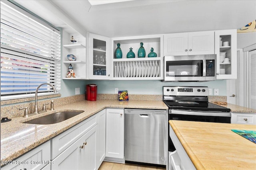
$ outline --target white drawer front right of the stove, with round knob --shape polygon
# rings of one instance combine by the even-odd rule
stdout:
[[[231,113],[231,123],[256,125],[256,114]]]

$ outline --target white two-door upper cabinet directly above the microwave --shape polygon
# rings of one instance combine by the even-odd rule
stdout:
[[[164,35],[164,56],[214,54],[214,31]]]

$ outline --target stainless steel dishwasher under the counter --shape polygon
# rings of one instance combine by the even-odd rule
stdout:
[[[124,109],[125,161],[166,165],[166,110]]]

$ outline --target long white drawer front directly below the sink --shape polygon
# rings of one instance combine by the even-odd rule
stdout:
[[[82,135],[92,129],[96,122],[96,115],[89,117],[74,127],[64,131],[52,139],[52,159],[77,141]]]

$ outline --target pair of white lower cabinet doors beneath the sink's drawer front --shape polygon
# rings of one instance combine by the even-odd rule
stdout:
[[[64,150],[53,161],[52,170],[96,169],[96,131],[98,125]]]

